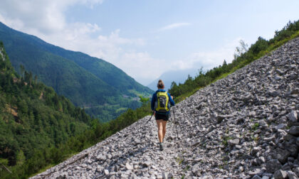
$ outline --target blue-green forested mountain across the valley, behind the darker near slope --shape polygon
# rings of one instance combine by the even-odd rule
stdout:
[[[140,107],[138,96],[152,94],[151,89],[105,60],[59,48],[3,23],[0,40],[17,72],[23,65],[38,80],[101,121],[115,119],[128,108]]]

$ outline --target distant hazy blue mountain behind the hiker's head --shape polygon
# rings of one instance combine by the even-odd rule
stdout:
[[[188,75],[190,75],[190,77],[195,77],[198,70],[199,69],[196,70],[193,68],[187,70],[170,70],[164,72],[160,77],[147,85],[147,87],[154,91],[157,90],[157,83],[161,79],[164,82],[165,89],[170,89],[172,82],[176,82],[177,84],[183,83],[187,79]]]

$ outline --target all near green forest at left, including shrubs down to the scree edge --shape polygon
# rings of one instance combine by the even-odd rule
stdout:
[[[0,43],[0,178],[28,178],[150,114],[149,104],[100,123],[21,67]]]

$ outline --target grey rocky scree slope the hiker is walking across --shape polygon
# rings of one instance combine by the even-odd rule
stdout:
[[[33,178],[298,178],[298,67],[295,38],[173,107],[164,151],[146,116]]]

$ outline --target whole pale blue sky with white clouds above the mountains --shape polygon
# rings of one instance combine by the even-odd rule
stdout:
[[[142,85],[169,70],[210,69],[243,40],[299,19],[298,0],[1,0],[0,21],[101,58]]]

